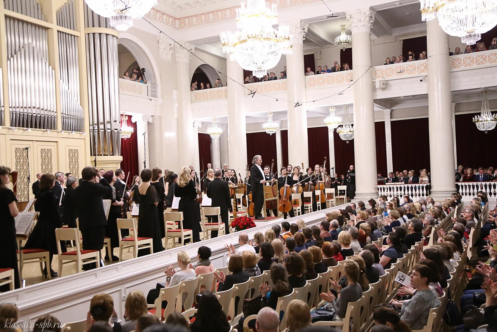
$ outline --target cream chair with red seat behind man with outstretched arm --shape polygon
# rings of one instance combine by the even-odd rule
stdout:
[[[81,250],[79,246],[76,246],[76,250],[62,252],[60,241],[75,240],[79,242],[79,232],[79,228],[55,228],[57,253],[59,255],[59,277],[62,277],[62,266],[64,264],[76,263],[77,273],[81,272],[84,264],[96,263],[97,266],[100,266],[100,250]]]

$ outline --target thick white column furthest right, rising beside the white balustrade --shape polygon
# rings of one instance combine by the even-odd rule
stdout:
[[[449,36],[438,25],[438,19],[426,23],[426,41],[429,56],[430,196],[445,199],[456,190],[456,186],[454,181]]]

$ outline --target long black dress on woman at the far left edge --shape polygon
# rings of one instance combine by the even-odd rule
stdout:
[[[0,241],[0,269],[14,270],[14,287],[19,288],[19,270],[17,268],[17,240],[15,238],[15,221],[10,214],[8,205],[17,202],[14,193],[8,188],[0,188],[0,232],[3,239]],[[9,290],[8,285],[0,286],[0,292]]]

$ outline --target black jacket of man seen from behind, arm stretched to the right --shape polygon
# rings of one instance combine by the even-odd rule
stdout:
[[[102,197],[112,196],[112,188],[90,181],[82,181],[75,188],[75,217],[80,219],[80,229],[86,230],[105,226],[107,218],[103,211]]]

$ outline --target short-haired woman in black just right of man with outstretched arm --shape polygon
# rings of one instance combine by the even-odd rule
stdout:
[[[109,216],[107,217],[107,225],[105,226],[105,236],[110,238],[110,253],[113,261],[119,261],[119,257],[114,256],[114,248],[119,247],[119,235],[117,230],[117,219],[121,218],[121,207],[124,202],[121,201],[121,193],[116,190],[114,183],[117,181],[114,171],[108,171],[103,174],[105,181],[100,181],[100,184],[111,188],[112,192],[109,197],[103,197],[104,200],[110,200]],[[105,253],[104,260],[109,260],[109,253]]]

